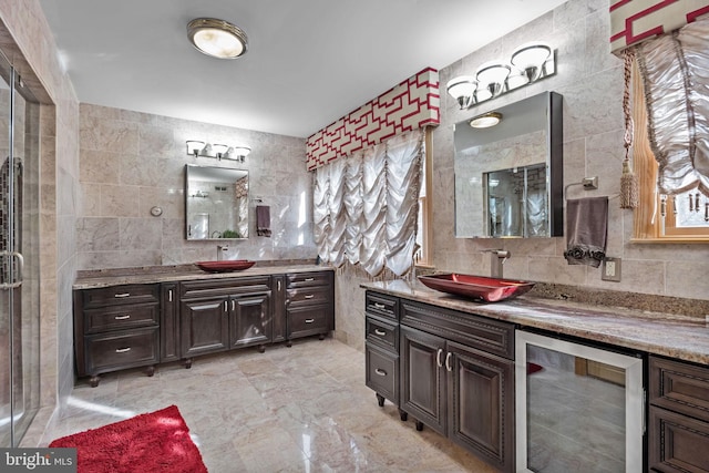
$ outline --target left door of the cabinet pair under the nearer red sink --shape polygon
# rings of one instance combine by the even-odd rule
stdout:
[[[445,435],[445,340],[401,327],[401,410]]]

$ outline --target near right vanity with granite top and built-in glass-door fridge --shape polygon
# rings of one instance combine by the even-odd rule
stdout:
[[[709,471],[703,318],[530,296],[479,304],[402,280],[362,287],[366,383],[380,405],[391,401],[417,429],[425,425],[504,472],[572,471],[564,462],[584,455],[597,464],[604,451],[595,449],[604,443],[617,456],[608,471]],[[572,391],[552,378],[558,370],[545,350],[564,353],[571,371],[563,376],[582,389],[558,404],[540,383],[554,379],[552,391]],[[578,405],[569,410],[574,398]],[[615,407],[602,411],[604,399]],[[593,425],[613,411],[619,419]],[[544,435],[527,444],[532,418],[572,432],[580,450],[565,460],[551,450],[557,445],[546,428],[546,445]],[[586,435],[592,429],[596,436]]]

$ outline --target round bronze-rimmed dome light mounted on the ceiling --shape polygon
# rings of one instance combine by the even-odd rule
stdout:
[[[238,27],[216,18],[197,18],[187,24],[187,38],[201,52],[219,59],[246,53],[248,39]]]

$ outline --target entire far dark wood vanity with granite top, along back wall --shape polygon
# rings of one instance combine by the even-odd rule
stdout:
[[[335,278],[316,265],[208,274],[173,270],[85,271],[74,284],[79,377],[318,336],[335,329]]]

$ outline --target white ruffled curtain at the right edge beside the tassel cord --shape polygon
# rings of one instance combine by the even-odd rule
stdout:
[[[658,188],[709,196],[709,17],[635,47]]]

